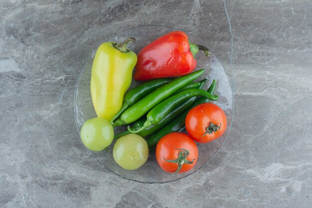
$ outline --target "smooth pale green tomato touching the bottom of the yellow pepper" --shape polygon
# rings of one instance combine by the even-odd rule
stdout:
[[[112,143],[114,128],[104,118],[89,119],[82,125],[80,137],[82,143],[89,150],[102,151]]]

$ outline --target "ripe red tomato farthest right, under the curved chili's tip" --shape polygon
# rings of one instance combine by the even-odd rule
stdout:
[[[225,132],[227,126],[224,111],[213,103],[203,103],[192,108],[185,118],[185,129],[196,142],[211,142]]]

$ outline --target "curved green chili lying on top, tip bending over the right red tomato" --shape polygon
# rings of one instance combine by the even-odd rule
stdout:
[[[130,127],[128,127],[128,131],[131,133],[139,133],[140,131],[150,127],[157,125],[170,111],[176,108],[181,102],[186,101],[187,99],[195,96],[204,96],[209,100],[217,100],[218,95],[211,95],[209,92],[201,89],[188,89],[184,90],[172,97],[169,97],[157,104],[148,114],[147,120],[144,123],[144,126],[134,131]]]

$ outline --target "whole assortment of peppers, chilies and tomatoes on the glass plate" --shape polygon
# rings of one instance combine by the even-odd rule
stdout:
[[[139,53],[127,48],[136,42],[106,42],[98,48],[91,72],[91,97],[97,118],[87,120],[80,132],[92,151],[108,150],[126,170],[140,168],[156,151],[159,167],[171,174],[191,170],[198,161],[196,142],[211,142],[225,132],[227,119],[216,104],[216,81],[205,90],[207,79],[193,82],[205,69],[196,67],[195,54],[208,48],[193,44],[182,31],[170,32]],[[146,81],[129,90],[134,79]],[[148,81],[147,81],[148,80]],[[114,135],[114,128],[127,130]],[[187,134],[181,133],[183,128]]]

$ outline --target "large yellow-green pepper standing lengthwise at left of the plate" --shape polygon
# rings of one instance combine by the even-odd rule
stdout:
[[[91,71],[91,97],[98,117],[110,121],[118,113],[132,81],[137,63],[135,52],[127,48],[130,37],[124,42],[105,42],[96,51]]]

